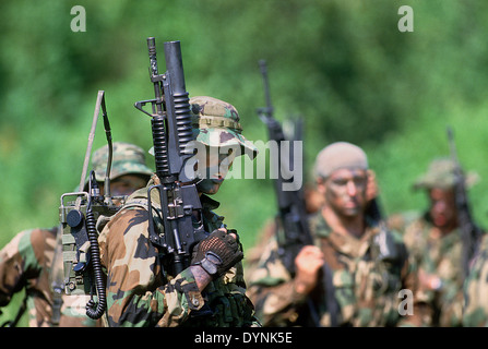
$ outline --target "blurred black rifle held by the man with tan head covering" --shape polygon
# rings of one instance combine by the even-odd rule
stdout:
[[[289,152],[289,157],[282,153],[282,142],[286,141],[283,128],[273,117],[273,107],[270,98],[270,87],[267,83],[267,68],[264,60],[259,61],[261,74],[263,76],[264,95],[266,107],[258,108],[258,116],[267,127],[269,139],[277,143],[277,179],[274,180],[274,189],[277,197],[278,213],[276,216],[276,240],[278,244],[278,255],[284,266],[295,276],[295,257],[305,245],[313,244],[313,238],[310,233],[308,216],[306,212],[306,203],[303,200],[302,189],[294,191],[284,191],[284,183],[293,183],[291,176],[283,176],[288,169],[295,168],[299,163],[294,158],[294,152]],[[301,128],[300,128],[301,130]],[[301,141],[301,134],[296,134],[294,141]],[[291,167],[290,167],[291,166]],[[332,284],[332,270],[324,263],[322,267],[322,284],[325,291],[325,302],[328,311],[331,314],[331,326],[337,325],[337,303],[334,294],[334,286]],[[311,317],[316,326],[320,326],[316,305],[309,299],[309,309]]]

